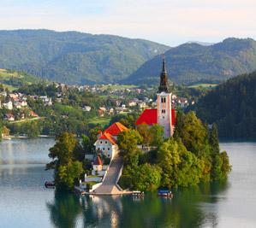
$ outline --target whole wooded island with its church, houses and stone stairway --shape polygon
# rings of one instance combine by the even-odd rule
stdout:
[[[231,171],[218,145],[217,125],[205,125],[193,111],[176,111],[163,58],[157,108],[145,109],[133,124],[114,122],[76,139],[63,132],[50,149],[58,189],[117,195],[131,190],[188,187],[219,181]]]

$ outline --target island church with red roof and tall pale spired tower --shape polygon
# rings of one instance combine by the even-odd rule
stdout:
[[[145,109],[136,121],[135,125],[146,124],[152,126],[158,124],[164,126],[164,137],[172,137],[175,128],[175,108],[172,108],[171,92],[168,89],[168,74],[163,56],[163,67],[160,74],[158,87],[158,106],[154,109]]]

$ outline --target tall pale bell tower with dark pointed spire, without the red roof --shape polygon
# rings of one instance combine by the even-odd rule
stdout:
[[[171,114],[171,93],[168,90],[168,74],[163,55],[163,67],[158,87],[158,125],[164,126],[164,137],[171,137],[174,133]]]

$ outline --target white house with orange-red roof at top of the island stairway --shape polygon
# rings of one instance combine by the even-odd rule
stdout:
[[[99,132],[98,139],[94,143],[96,151],[112,160],[118,153],[117,136],[124,131],[128,131],[128,128],[116,122],[104,130],[104,132]]]

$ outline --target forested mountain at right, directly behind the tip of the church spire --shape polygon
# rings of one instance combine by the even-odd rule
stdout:
[[[227,38],[211,46],[182,44],[165,52],[170,79],[187,85],[219,82],[256,69],[256,41]],[[158,81],[162,56],[146,61],[123,82],[142,84]]]

